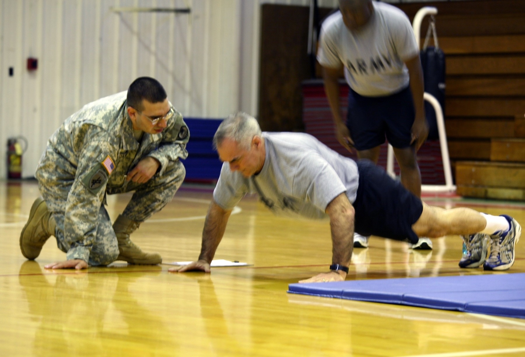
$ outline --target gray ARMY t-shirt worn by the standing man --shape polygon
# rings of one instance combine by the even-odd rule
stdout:
[[[404,61],[419,54],[408,17],[397,7],[372,2],[370,21],[350,31],[340,12],[321,27],[317,60],[324,67],[344,65],[350,88],[363,96],[384,96],[408,86]]]

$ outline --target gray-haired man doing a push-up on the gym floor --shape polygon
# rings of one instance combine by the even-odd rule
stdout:
[[[344,280],[354,230],[411,243],[421,235],[461,234],[476,243],[469,246],[471,267],[506,270],[514,262],[521,234],[516,220],[468,208],[431,207],[370,160],[355,163],[311,135],[261,133],[254,117],[237,113],[219,125],[213,142],[224,164],[206,215],[201,254],[172,272],[210,271],[229,215],[246,193],[257,193],[276,214],[330,219],[330,270],[301,283]]]

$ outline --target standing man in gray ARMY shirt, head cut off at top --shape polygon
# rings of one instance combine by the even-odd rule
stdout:
[[[339,0],[340,12],[321,28],[317,59],[339,142],[358,157],[377,163],[380,145],[388,142],[401,170],[401,183],[421,197],[416,152],[428,127],[423,105],[419,49],[407,16],[398,8],[372,0]],[[350,86],[346,123],[339,108],[339,73],[344,66]],[[355,236],[366,247],[367,237]],[[422,239],[413,248],[432,248]]]

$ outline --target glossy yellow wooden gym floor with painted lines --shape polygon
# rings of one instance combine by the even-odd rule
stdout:
[[[254,197],[230,217],[215,258],[253,264],[211,274],[117,262],[85,271],[44,269],[65,259],[52,237],[36,261],[19,233],[36,182],[0,182],[0,356],[495,356],[525,355],[525,320],[287,294],[326,271],[328,222],[276,218]],[[131,196],[111,196],[114,219]],[[132,235],[165,263],[199,253],[209,187],[183,186]],[[523,202],[427,198],[442,207],[507,213],[525,226]],[[525,272],[525,243],[508,272],[460,269],[461,240],[414,252],[372,237],[347,279]],[[525,282],[524,282],[525,285]]]

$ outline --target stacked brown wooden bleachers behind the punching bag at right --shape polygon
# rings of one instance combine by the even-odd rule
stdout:
[[[525,1],[399,7],[413,18],[422,5],[438,9],[447,67],[445,126],[457,193],[525,200]]]

